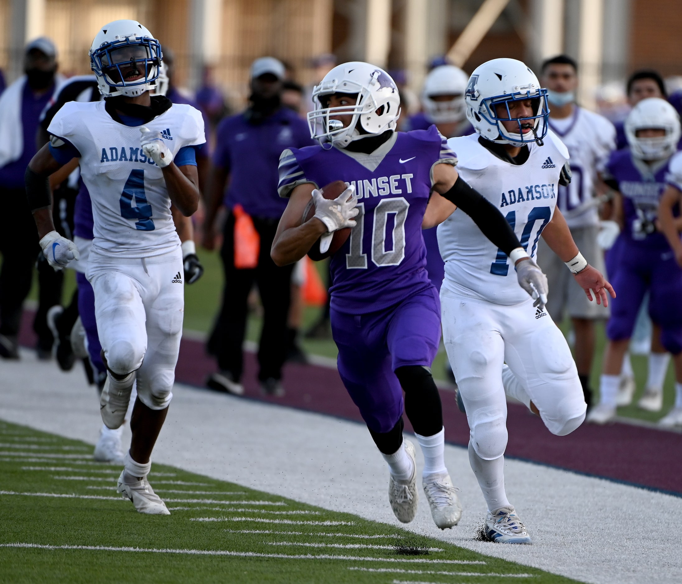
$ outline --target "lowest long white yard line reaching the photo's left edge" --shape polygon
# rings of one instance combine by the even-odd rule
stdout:
[[[231,555],[235,557],[278,557],[282,559],[347,559],[351,562],[400,562],[409,564],[458,564],[457,559],[412,559],[402,557],[371,557],[362,555],[289,555],[287,553],[258,553],[255,551],[231,551],[226,549],[156,549],[140,547],[114,547],[104,545],[44,545],[35,543],[2,543],[0,547],[18,547],[33,549],[84,549],[93,551],[138,551],[147,553],[181,553],[186,555]],[[454,572],[457,573],[457,572]],[[463,572],[466,574],[466,572]],[[476,574],[474,576],[499,576],[505,574]],[[516,576],[516,574],[514,574]],[[530,574],[524,574],[529,577]]]

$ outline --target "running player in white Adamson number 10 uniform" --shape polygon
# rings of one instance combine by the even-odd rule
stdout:
[[[548,131],[547,90],[524,63],[494,59],[473,72],[465,99],[477,134],[448,140],[460,180],[506,213],[531,258],[542,235],[588,297],[591,288],[598,303],[608,304],[610,284],[584,260],[555,209],[557,187],[569,181],[568,151]],[[443,340],[471,429],[469,461],[488,504],[486,535],[530,543],[505,494],[505,390],[553,434],[566,435],[587,408],[578,371],[559,328],[518,288],[504,251],[469,217],[453,213],[439,226],[438,241],[445,260]]]

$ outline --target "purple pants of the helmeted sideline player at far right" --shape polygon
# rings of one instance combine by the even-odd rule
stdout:
[[[642,298],[649,290],[649,316],[662,328],[666,351],[682,351],[682,269],[670,248],[651,248],[623,242],[611,284],[617,297],[610,300],[611,318],[606,336],[612,341],[632,337]]]

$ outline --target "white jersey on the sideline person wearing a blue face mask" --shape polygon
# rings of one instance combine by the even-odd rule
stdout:
[[[567,119],[550,118],[550,128],[557,134],[571,156],[573,179],[559,187],[557,205],[570,228],[599,225],[599,213],[593,203],[597,172],[604,170],[608,156],[616,149],[616,129],[608,119],[574,106]]]

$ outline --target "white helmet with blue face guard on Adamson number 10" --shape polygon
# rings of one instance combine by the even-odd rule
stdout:
[[[531,99],[533,115],[527,118],[512,118],[509,103]],[[550,108],[547,90],[525,63],[516,59],[492,59],[476,67],[469,78],[464,93],[466,117],[481,136],[497,144],[523,146],[531,142],[543,144],[547,135]],[[497,112],[496,104],[505,104],[503,112]],[[518,132],[509,132],[502,125],[503,120],[515,120]],[[522,124],[531,125],[531,132],[524,134]]]

